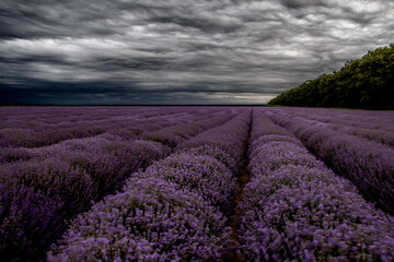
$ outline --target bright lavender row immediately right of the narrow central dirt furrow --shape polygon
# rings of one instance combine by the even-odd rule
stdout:
[[[254,129],[279,130],[262,118],[254,115]],[[252,141],[252,178],[239,204],[245,260],[392,261],[394,218],[282,132]]]

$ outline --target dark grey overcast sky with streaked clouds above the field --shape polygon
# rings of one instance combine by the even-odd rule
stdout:
[[[393,43],[392,0],[1,0],[0,104],[265,104]]]

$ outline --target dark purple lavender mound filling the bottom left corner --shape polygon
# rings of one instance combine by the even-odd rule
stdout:
[[[66,229],[65,219],[85,211],[97,187],[81,168],[58,158],[4,165],[0,170],[2,260],[42,253]]]

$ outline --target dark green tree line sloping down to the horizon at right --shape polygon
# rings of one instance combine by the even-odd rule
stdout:
[[[289,90],[268,105],[394,109],[394,44]]]

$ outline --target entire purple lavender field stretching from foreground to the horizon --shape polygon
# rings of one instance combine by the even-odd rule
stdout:
[[[1,261],[394,261],[394,111],[0,107]]]

